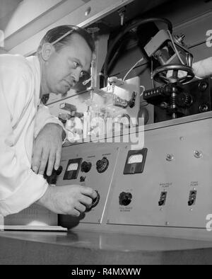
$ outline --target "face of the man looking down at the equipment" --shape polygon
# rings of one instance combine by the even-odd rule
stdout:
[[[54,49],[45,62],[45,79],[49,92],[64,94],[76,82],[83,72],[88,72],[92,52],[81,35],[73,34],[70,42],[58,52]]]

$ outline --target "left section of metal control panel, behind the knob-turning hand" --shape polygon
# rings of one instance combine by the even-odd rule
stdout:
[[[80,222],[102,222],[118,154],[119,147],[110,144],[107,146],[100,144],[98,148],[94,143],[88,144],[88,148],[87,144],[63,148],[61,155],[63,171],[58,176],[57,186],[73,184],[89,186],[99,194],[96,206],[81,216]],[[67,218],[70,222],[77,221]]]

